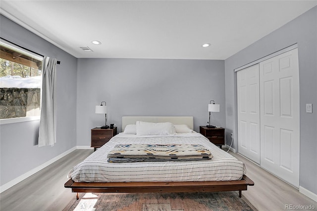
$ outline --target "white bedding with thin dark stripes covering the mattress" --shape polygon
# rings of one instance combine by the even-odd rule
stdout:
[[[213,158],[201,161],[153,161],[110,163],[107,154],[118,144],[201,144]],[[74,166],[68,178],[75,182],[154,182],[240,180],[244,163],[209,142],[200,133],[170,136],[137,136],[120,133],[83,162]]]

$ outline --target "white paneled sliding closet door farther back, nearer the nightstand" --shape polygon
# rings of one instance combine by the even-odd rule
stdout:
[[[237,72],[239,153],[260,164],[259,64]]]

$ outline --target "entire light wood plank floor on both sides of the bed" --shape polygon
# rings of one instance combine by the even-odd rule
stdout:
[[[64,188],[70,168],[88,157],[93,150],[75,150],[50,166],[0,194],[0,211],[61,211],[76,194]],[[242,195],[259,211],[282,211],[285,205],[315,206],[293,186],[266,172],[253,162],[231,153],[246,164],[247,176],[255,186]]]

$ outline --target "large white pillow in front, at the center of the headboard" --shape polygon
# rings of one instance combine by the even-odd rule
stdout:
[[[175,126],[170,122],[136,122],[137,135],[175,135]]]

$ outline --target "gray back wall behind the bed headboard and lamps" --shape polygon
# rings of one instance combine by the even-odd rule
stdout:
[[[220,104],[211,123],[225,126],[224,61],[185,59],[78,59],[77,145],[90,145],[90,129],[105,124],[95,106],[107,104],[107,124],[121,117],[194,116],[207,125],[208,104]]]

